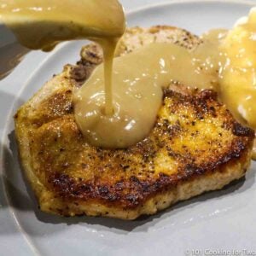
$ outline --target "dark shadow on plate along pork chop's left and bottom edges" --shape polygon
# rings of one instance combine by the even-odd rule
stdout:
[[[63,225],[60,224],[87,224],[91,226],[98,225],[102,226],[102,230],[106,230],[106,228],[109,228],[112,229],[115,233],[119,234],[131,232],[135,229],[138,231],[147,231],[148,227],[154,226],[154,224],[157,224],[157,222],[159,222],[163,218],[170,218],[170,216],[175,218],[175,215],[178,214],[178,212],[183,211],[184,208],[196,207],[196,205],[199,204],[201,201],[207,201],[214,198],[222,197],[224,195],[229,195],[234,193],[235,191],[238,193],[242,193],[243,191],[249,189],[253,185],[255,180],[255,172],[249,172],[246,183],[246,178],[242,177],[240,180],[234,181],[226,185],[224,189],[207,192],[204,195],[198,195],[188,201],[178,202],[174,206],[169,207],[166,210],[158,212],[152,216],[142,216],[132,221],[115,218],[86,216],[65,218],[41,212],[38,209],[38,203],[35,199],[32,189],[27,183],[26,177],[24,177],[23,172],[22,174],[20,173],[21,166],[15,141],[15,131],[12,131],[9,134],[9,148],[4,149],[4,159],[5,170],[8,171],[8,174],[5,177],[5,183],[7,184],[10,201],[13,207],[15,207],[15,209],[17,209],[18,211],[34,212],[35,217],[42,224],[56,224],[56,226],[59,226],[59,228],[56,228],[54,232],[61,231],[63,229]],[[23,189],[18,189],[19,186],[23,187]],[[39,233],[32,235],[40,236]]]

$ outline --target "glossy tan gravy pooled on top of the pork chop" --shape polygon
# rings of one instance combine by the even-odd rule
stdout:
[[[76,120],[84,136],[103,148],[126,148],[142,140],[154,126],[163,89],[172,81],[201,89],[217,83],[216,68],[207,65],[204,50],[200,47],[192,54],[175,44],[148,44],[114,58],[112,116],[102,108],[104,74],[102,65],[97,67],[74,95]]]

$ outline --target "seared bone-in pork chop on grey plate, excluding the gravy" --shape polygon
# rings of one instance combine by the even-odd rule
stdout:
[[[133,28],[118,55],[152,42],[193,49],[201,40],[169,26]],[[238,124],[212,90],[172,84],[143,141],[116,150],[90,146],[74,119],[73,90],[102,62],[102,50],[90,44],[81,57],[15,115],[20,160],[42,211],[134,219],[244,176],[253,131]]]

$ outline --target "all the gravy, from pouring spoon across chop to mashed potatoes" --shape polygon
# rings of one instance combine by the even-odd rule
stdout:
[[[92,145],[126,148],[147,137],[163,89],[173,81],[218,90],[236,119],[256,129],[253,9],[230,32],[204,34],[203,43],[193,51],[174,44],[149,44],[114,59],[125,31],[125,15],[118,1],[0,0],[0,19],[30,49],[50,50],[61,41],[82,38],[102,45],[104,64],[73,94],[75,119]]]

